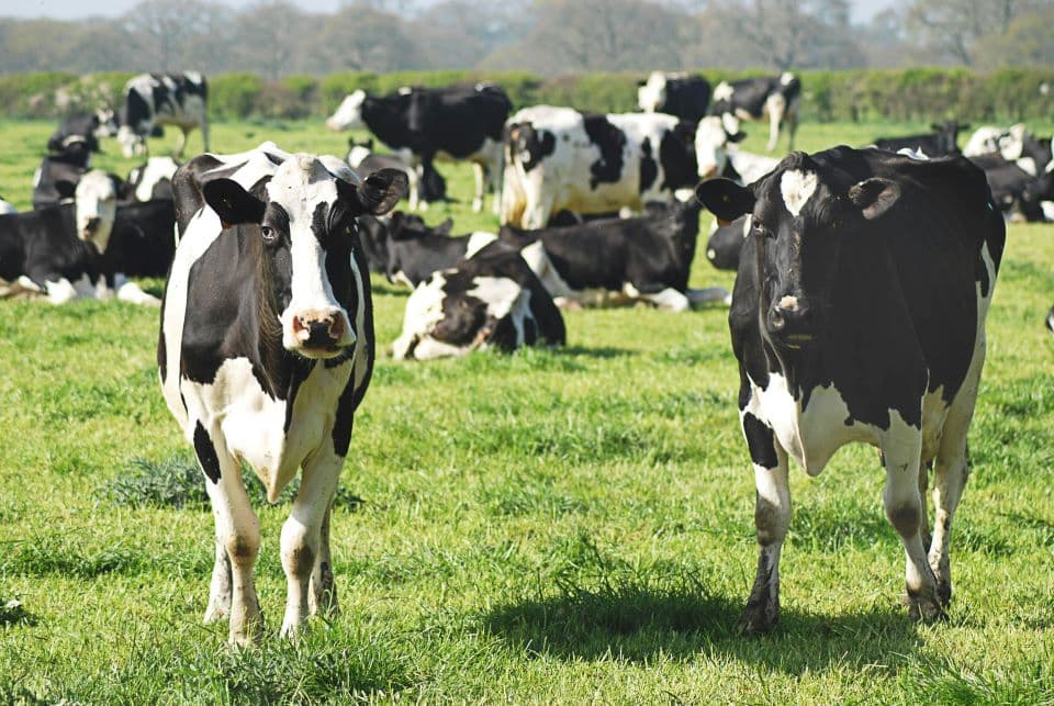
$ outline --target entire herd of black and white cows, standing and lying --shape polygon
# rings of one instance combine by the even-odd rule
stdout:
[[[327,126],[365,127],[391,152],[352,142],[341,159],[271,142],[209,153],[205,80],[143,75],[116,116],[72,117],[48,141],[34,211],[0,215],[0,292],[161,306],[164,396],[214,509],[205,619],[228,619],[235,642],[262,620],[242,462],[272,501],[303,472],[281,531],[282,634],[337,609],[329,511],[377,355],[370,271],[413,290],[391,347],[400,360],[559,346],[569,306],[729,304],[760,546],[744,629],[778,618],[788,458],[815,475],[851,441],[882,452],[909,613],[932,620],[951,597],[949,530],[1003,214],[1049,215],[1051,141],[986,127],[958,153],[963,126],[942,123],[783,159],[739,148],[747,120],[769,120],[770,150],[782,128],[793,144],[800,97],[790,74],[711,90],[657,72],[639,88],[642,112],[610,114],[513,112],[486,83],[357,90]],[[200,128],[205,154],[153,157],[127,178],[91,169],[100,136],[145,154],[162,123],[183,131],[180,152]],[[472,206],[493,195],[496,232],[453,235],[450,221],[393,211],[405,195],[411,211],[447,198],[444,160],[472,164]],[[731,294],[688,287],[704,208],[717,218],[707,258],[738,272]],[[166,273],[160,301],[127,279]]]

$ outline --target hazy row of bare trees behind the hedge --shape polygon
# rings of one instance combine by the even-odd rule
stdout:
[[[901,0],[863,25],[848,0],[144,0],[114,19],[0,19],[0,74],[987,70],[1054,65],[1051,36],[1054,0]]]

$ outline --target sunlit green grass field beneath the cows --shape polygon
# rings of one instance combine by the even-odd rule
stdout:
[[[913,127],[804,125],[799,146]],[[0,124],[20,208],[51,128]],[[220,124],[213,147],[265,138],[344,154],[321,124]],[[461,201],[426,218],[492,227],[470,171],[440,168]],[[702,250],[693,284],[729,287]],[[374,288],[388,344],[406,291]],[[726,310],[629,309],[567,313],[562,350],[380,360],[334,519],[343,616],[277,637],[288,508],[261,507],[269,635],[248,651],[201,625],[212,517],[158,389],[157,311],[0,302],[0,703],[1052,704],[1052,301],[1054,227],[1011,225],[945,624],[908,620],[884,472],[850,447],[792,472],[782,621],[738,637],[756,549]]]

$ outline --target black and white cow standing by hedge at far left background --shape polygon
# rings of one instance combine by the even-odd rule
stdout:
[[[117,142],[125,157],[146,154],[147,136],[160,125],[180,128],[176,156],[183,154],[187,135],[201,130],[209,152],[209,86],[198,71],[141,74],[124,85],[124,103],[119,113]]]

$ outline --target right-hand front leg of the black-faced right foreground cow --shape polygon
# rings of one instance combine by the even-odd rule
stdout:
[[[919,458],[922,433],[894,418],[882,445],[886,463],[883,502],[907,556],[905,565],[906,602],[912,620],[934,620],[942,615],[937,598],[937,581],[922,546],[922,497],[919,494]]]

